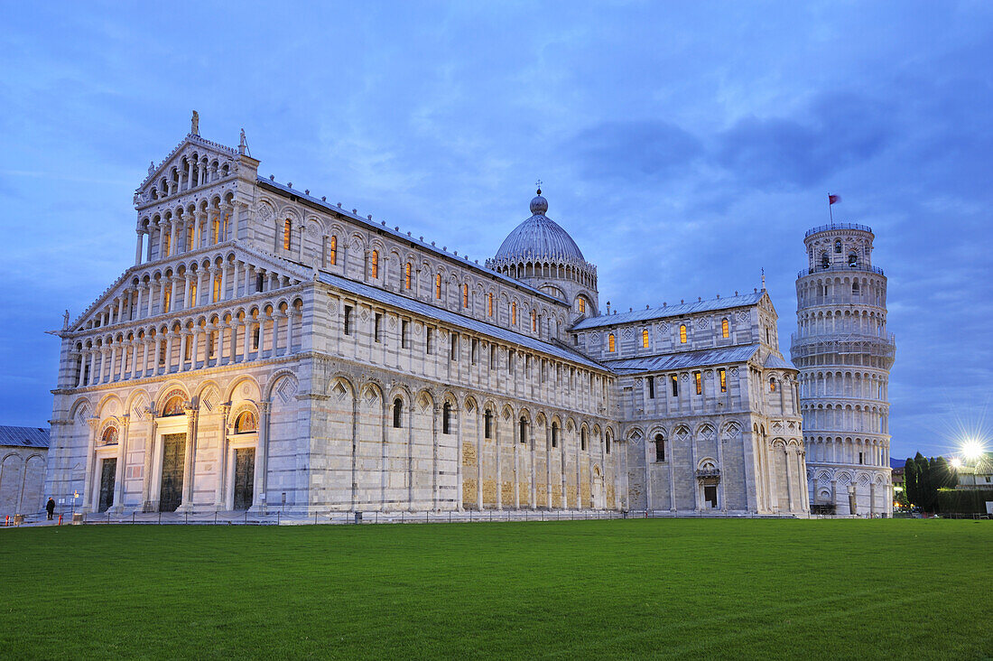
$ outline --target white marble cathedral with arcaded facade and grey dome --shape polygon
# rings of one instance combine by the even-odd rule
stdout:
[[[765,289],[602,311],[538,194],[485,264],[191,132],[62,339],[46,493],[89,512],[805,516]],[[509,225],[509,224],[508,224]]]

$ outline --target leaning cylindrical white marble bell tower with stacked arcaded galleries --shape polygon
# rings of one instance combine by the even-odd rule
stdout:
[[[796,276],[793,365],[807,486],[815,513],[889,516],[887,389],[896,344],[886,327],[886,276],[872,265],[873,232],[832,223],[806,233]]]

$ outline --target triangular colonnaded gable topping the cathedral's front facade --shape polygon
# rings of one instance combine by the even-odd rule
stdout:
[[[185,186],[190,163],[228,175],[234,174],[237,171],[237,155],[237,150],[231,147],[188,133],[158,166],[154,163],[148,166],[148,176],[135,191],[134,204],[136,207],[153,204],[168,197],[170,186],[174,191],[179,189],[178,184]]]

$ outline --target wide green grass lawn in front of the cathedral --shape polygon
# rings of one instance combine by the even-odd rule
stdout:
[[[0,531],[0,657],[993,655],[993,523]]]

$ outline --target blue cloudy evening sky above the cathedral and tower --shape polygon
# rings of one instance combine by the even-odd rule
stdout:
[[[133,263],[132,193],[200,112],[259,174],[482,262],[548,216],[627,310],[761,285],[869,225],[893,457],[993,439],[993,4],[16,3],[0,31],[0,423]]]

